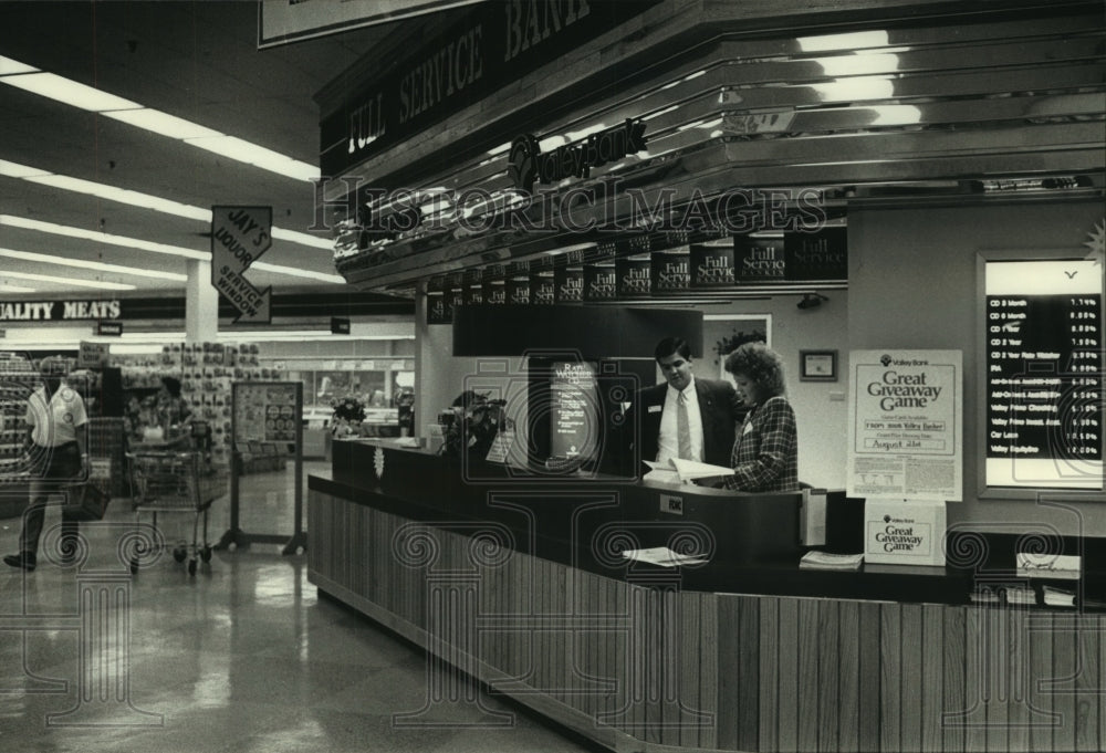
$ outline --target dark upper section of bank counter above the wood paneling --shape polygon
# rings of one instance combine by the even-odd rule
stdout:
[[[471,533],[487,524],[515,551],[629,582],[676,578],[706,593],[967,604],[973,572],[952,567],[866,566],[800,569],[800,494],[734,494],[595,477],[518,478],[490,463],[335,442],[332,478],[309,489],[436,527]],[[843,495],[842,493],[837,493]],[[681,514],[662,512],[679,501]],[[497,534],[500,535],[500,534]],[[630,566],[619,552],[667,545],[708,553],[702,566]]]

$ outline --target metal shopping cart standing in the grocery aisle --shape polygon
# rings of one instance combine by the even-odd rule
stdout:
[[[159,512],[192,513],[192,543],[180,541],[173,548],[173,558],[188,558],[188,574],[196,575],[196,559],[211,559],[211,545],[207,540],[207,513],[215,500],[227,493],[227,469],[210,466],[202,452],[133,452],[131,460],[135,526],[144,512],[153,513],[157,527]],[[204,516],[204,538],[199,544],[198,527]],[[131,572],[138,572],[138,557],[131,559]]]

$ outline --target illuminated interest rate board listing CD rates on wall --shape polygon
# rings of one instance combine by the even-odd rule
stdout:
[[[1103,266],[985,264],[988,487],[1103,488]]]

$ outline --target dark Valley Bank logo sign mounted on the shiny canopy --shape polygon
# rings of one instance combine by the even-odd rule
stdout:
[[[508,155],[508,176],[515,188],[533,190],[534,184],[551,185],[565,178],[587,178],[592,168],[646,148],[645,123],[627,118],[617,125],[582,142],[560,146],[553,151],[542,151],[538,138],[523,134],[511,143]]]

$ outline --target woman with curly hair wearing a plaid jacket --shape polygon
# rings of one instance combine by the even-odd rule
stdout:
[[[733,442],[726,487],[745,492],[799,491],[795,411],[784,397],[783,358],[763,343],[745,343],[726,358],[738,397],[749,407]]]

